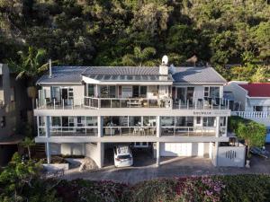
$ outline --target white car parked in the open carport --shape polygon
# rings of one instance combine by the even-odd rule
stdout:
[[[133,165],[133,156],[129,145],[117,145],[113,148],[115,167]]]

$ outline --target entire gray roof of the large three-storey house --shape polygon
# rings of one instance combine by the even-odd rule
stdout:
[[[174,83],[226,83],[211,67],[174,67],[166,81]],[[99,81],[159,81],[158,66],[53,66],[52,76],[42,75],[37,83],[81,83],[82,75]],[[164,80],[163,80],[164,81]]]

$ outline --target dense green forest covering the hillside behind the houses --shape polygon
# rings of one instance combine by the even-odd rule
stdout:
[[[0,0],[0,62],[46,51],[58,65],[154,66],[190,57],[228,79],[266,81],[266,0]],[[231,66],[232,64],[232,66]]]

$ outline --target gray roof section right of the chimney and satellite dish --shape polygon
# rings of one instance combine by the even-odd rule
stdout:
[[[212,67],[175,67],[175,83],[227,83]]]

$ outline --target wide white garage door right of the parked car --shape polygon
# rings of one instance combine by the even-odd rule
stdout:
[[[209,157],[209,143],[160,143],[160,156]]]

